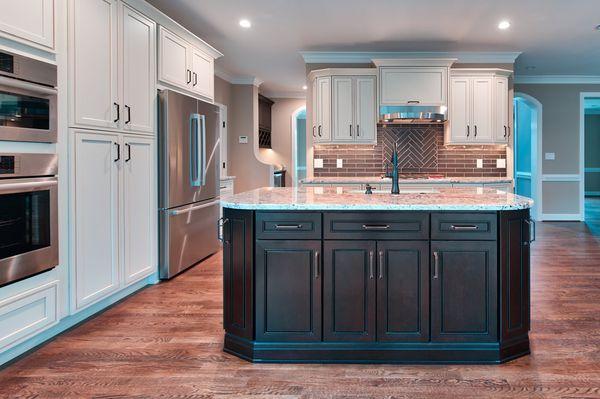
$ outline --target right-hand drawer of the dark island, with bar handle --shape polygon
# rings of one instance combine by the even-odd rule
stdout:
[[[433,213],[432,240],[496,240],[495,213]]]

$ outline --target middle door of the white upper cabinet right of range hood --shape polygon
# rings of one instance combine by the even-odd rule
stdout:
[[[473,139],[478,142],[491,142],[493,139],[493,100],[492,78],[473,79]]]

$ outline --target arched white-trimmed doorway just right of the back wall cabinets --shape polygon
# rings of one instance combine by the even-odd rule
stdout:
[[[533,198],[531,217],[542,220],[542,104],[515,93],[514,110],[515,193]]]

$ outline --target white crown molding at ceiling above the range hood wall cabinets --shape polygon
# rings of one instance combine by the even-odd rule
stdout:
[[[403,58],[456,58],[458,63],[488,63],[488,64],[512,64],[521,52],[362,52],[362,51],[300,51],[300,55],[307,64],[316,63],[338,63],[338,64],[360,64],[371,63],[374,59],[403,59]]]

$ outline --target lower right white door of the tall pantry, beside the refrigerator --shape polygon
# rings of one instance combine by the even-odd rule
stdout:
[[[154,142],[125,136],[123,147],[123,258],[125,283],[156,271]]]

